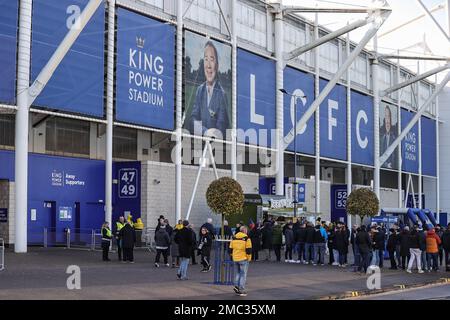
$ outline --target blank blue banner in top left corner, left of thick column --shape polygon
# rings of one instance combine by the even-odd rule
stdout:
[[[0,0],[0,102],[15,104],[19,0]]]

